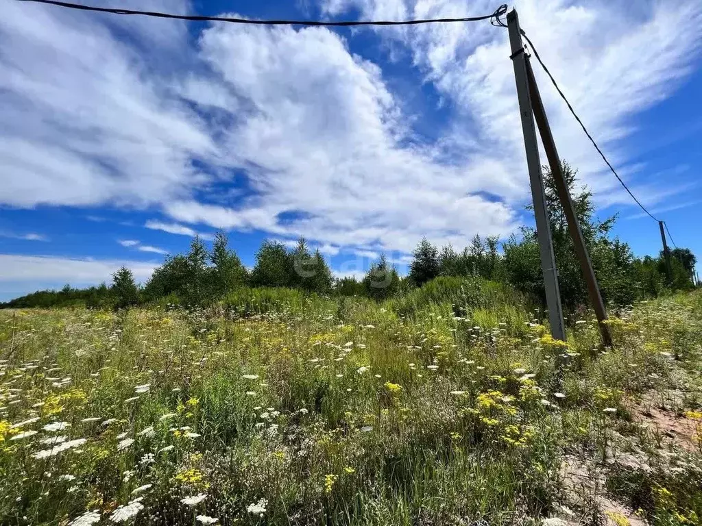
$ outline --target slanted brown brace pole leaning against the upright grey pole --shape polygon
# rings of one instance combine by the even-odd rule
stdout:
[[[522,53],[522,55],[523,54],[524,53]],[[576,215],[575,209],[573,207],[573,200],[571,199],[570,192],[568,191],[567,182],[565,180],[565,177],[563,176],[561,158],[558,156],[556,143],[555,140],[553,140],[551,128],[548,125],[548,117],[546,116],[546,110],[543,107],[541,93],[539,93],[538,86],[536,85],[534,70],[531,69],[531,62],[529,62],[528,57],[524,58],[524,63],[527,67],[529,95],[531,96],[531,104],[534,109],[534,119],[536,119],[536,125],[538,126],[539,133],[541,133],[541,142],[543,143],[543,149],[546,152],[546,157],[548,157],[548,164],[551,167],[551,175],[553,176],[553,182],[556,185],[556,189],[558,191],[558,198],[563,208],[564,215],[566,216],[568,230],[570,232],[571,238],[573,239],[575,252],[578,256],[578,260],[580,261],[580,267],[583,271],[583,278],[585,278],[585,283],[588,285],[588,296],[590,297],[590,304],[592,305],[592,309],[595,310],[595,316],[597,316],[597,321],[600,325],[600,335],[602,335],[602,342],[606,346],[611,346],[612,340],[611,335],[609,334],[609,328],[603,323],[607,320],[607,310],[604,309],[604,302],[602,301],[602,295],[600,294],[600,287],[597,285],[597,278],[595,277],[595,271],[592,269],[592,261],[590,261],[590,254],[588,254],[588,248],[585,246],[585,238],[583,238],[583,231],[580,228],[580,222],[578,222],[578,216]]]

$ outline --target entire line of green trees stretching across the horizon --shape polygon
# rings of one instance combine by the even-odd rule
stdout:
[[[694,287],[696,257],[690,250],[671,251],[668,279],[663,253],[657,257],[634,257],[627,243],[611,236],[616,216],[599,220],[590,191],[576,189],[576,170],[564,163],[563,171],[605,302],[626,305],[636,299],[656,297],[665,290]],[[572,310],[588,304],[587,290],[548,168],[544,182],[562,302]],[[229,248],[227,236],[220,232],[212,250],[207,250],[196,237],[187,254],[168,255],[143,287],[135,283],[129,269],[122,268],[114,274],[110,287],[102,284],[72,289],[67,285],[59,291],[34,292],[0,307],[123,308],[154,302],[197,305],[216,302],[242,288],[290,288],[319,295],[382,300],[403,295],[439,276],[483,278],[510,285],[535,302],[544,302],[536,230],[523,227],[520,236],[510,237],[501,247],[496,237],[475,236],[460,251],[451,246],[439,249],[423,239],[413,252],[408,276],[400,277],[381,255],[361,281],[350,277],[334,279],[319,250],[310,251],[304,238],[292,250],[277,241],[264,241],[249,272]]]

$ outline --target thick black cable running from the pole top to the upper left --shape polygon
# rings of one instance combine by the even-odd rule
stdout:
[[[192,22],[230,22],[232,24],[251,25],[299,25],[299,26],[325,26],[325,27],[350,27],[362,25],[419,25],[446,22],[479,22],[480,20],[490,20],[493,25],[503,25],[500,17],[507,13],[507,4],[499,6],[489,15],[472,16],[465,18],[427,18],[423,20],[249,20],[248,18],[232,18],[224,16],[203,16],[203,15],[178,15],[176,13],[160,13],[158,11],[134,11],[131,9],[118,9],[97,6],[86,6],[83,4],[72,4],[58,0],[17,0],[22,2],[37,2],[38,4],[50,4],[52,6],[65,7],[69,9],[79,9],[81,11],[95,11],[98,13],[111,13],[112,15],[143,15],[155,18],[172,18],[176,20],[190,20]]]

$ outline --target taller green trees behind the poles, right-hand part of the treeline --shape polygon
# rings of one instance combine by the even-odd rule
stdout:
[[[684,290],[694,286],[691,276],[696,257],[689,249],[676,248],[671,251],[672,280],[668,283],[663,253],[655,258],[634,257],[627,243],[611,237],[616,216],[598,220],[591,192],[576,189],[576,170],[565,162],[562,168],[606,302],[630,304],[638,298],[656,297],[665,288]],[[587,304],[587,290],[580,264],[574,257],[573,241],[559,205],[553,177],[548,167],[544,167],[544,170],[546,203],[562,302],[567,309],[574,309]],[[539,245],[536,229],[532,227],[523,227],[521,236],[512,236],[503,243],[501,254],[498,252],[497,238],[482,240],[475,236],[463,252],[456,252],[450,246],[439,251],[428,241],[421,241],[410,264],[409,278],[415,285],[422,285],[437,276],[481,276],[510,283],[518,290],[544,301]]]

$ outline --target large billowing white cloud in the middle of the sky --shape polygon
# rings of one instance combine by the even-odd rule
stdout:
[[[470,194],[494,166],[466,170],[412,146],[380,69],[336,34],[217,26],[201,46],[230,91],[254,108],[227,130],[223,149],[246,168],[257,195],[234,206],[169,203],[174,219],[400,250],[422,234],[461,243],[477,225],[486,234],[512,229],[507,205]],[[298,211],[299,219],[276,220]]]

